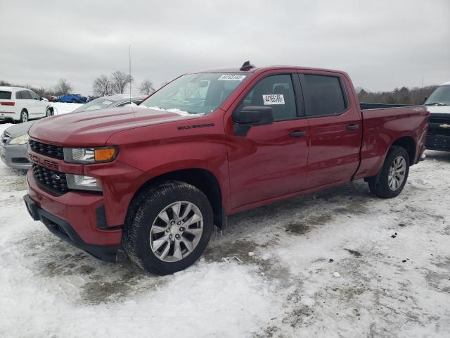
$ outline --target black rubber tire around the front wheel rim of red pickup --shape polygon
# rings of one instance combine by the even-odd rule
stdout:
[[[203,215],[203,233],[191,253],[180,261],[166,262],[158,258],[150,247],[150,229],[158,214],[169,204],[188,201]],[[168,275],[184,270],[195,263],[205,250],[214,228],[212,207],[203,192],[191,184],[167,181],[149,187],[134,198],[125,220],[122,244],[130,260],[155,275]]]

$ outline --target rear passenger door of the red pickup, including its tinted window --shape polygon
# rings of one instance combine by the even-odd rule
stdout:
[[[362,125],[352,85],[340,73],[299,74],[309,121],[307,188],[348,182],[359,165]]]

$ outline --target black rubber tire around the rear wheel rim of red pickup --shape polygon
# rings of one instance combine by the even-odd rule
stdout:
[[[397,189],[392,190],[389,186],[389,171],[392,163],[399,156],[404,158],[406,162],[406,168],[404,170],[404,180],[401,182]],[[402,148],[401,146],[392,146],[387,152],[387,156],[385,158],[385,163],[383,163],[383,167],[381,168],[381,173],[378,176],[378,180],[376,177],[371,177],[368,179],[368,187],[373,192],[373,194],[381,197],[383,199],[392,199],[392,197],[398,196],[403,190],[406,180],[408,180],[409,175],[409,156],[408,152]]]

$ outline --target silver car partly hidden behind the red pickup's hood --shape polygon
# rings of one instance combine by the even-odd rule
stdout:
[[[140,104],[147,96],[131,97],[131,104]],[[130,97],[122,94],[112,94],[99,97],[83,106],[75,109],[72,113],[79,111],[94,111],[96,109],[122,107],[130,104]],[[20,123],[8,127],[2,134],[0,140],[0,157],[8,167],[14,169],[28,170],[31,163],[28,161],[28,130],[36,121]]]

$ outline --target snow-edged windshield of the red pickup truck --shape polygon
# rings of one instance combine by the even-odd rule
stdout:
[[[247,79],[248,73],[187,74],[155,92],[140,106],[189,114],[207,114],[219,108]]]

